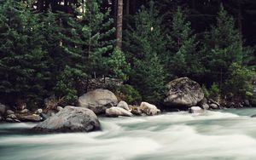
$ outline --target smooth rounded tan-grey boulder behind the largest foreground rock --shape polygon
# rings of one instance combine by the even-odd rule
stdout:
[[[89,108],[96,114],[105,113],[106,109],[117,104],[116,96],[107,89],[96,89],[79,97],[79,106]]]

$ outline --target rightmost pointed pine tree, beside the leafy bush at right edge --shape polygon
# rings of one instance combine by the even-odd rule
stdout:
[[[218,82],[222,90],[223,83],[232,63],[241,64],[243,59],[242,42],[235,29],[233,18],[221,5],[217,25],[206,35],[204,61],[207,68],[207,81]]]

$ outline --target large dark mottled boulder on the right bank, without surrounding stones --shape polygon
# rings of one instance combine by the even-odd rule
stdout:
[[[167,84],[169,89],[164,100],[166,106],[196,106],[204,98],[199,83],[188,77],[181,77]]]

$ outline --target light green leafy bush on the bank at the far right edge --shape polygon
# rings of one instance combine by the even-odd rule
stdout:
[[[256,75],[255,69],[232,63],[229,68],[229,77],[225,83],[225,91],[231,97],[253,96],[252,78]]]

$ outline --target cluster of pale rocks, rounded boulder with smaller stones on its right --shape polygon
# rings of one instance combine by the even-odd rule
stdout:
[[[140,106],[129,106],[125,101],[118,102],[117,97],[107,89],[95,89],[79,97],[79,106],[94,111],[96,115],[106,115],[108,117],[119,116],[154,116],[160,110],[147,102],[142,102]]]

